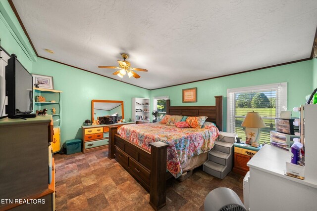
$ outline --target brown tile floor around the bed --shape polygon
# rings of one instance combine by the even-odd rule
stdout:
[[[149,193],[114,159],[108,150],[86,154],[55,154],[57,211],[152,211]],[[217,187],[234,190],[243,200],[243,176],[229,173],[223,180],[194,170],[183,182],[167,181],[166,206],[162,211],[204,210],[207,194]]]

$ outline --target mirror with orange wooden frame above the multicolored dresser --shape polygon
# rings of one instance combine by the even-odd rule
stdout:
[[[92,122],[98,117],[117,116],[117,120],[124,119],[123,101],[118,100],[92,100],[91,118]]]

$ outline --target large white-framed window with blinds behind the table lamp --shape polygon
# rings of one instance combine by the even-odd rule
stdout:
[[[270,141],[270,130],[275,130],[275,118],[286,110],[287,84],[268,84],[228,89],[227,130],[245,140],[245,127],[241,124],[248,112],[258,112],[266,127],[261,129],[259,143]]]

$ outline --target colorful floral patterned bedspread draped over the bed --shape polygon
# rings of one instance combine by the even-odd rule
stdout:
[[[151,151],[150,143],[167,143],[167,170],[175,177],[183,171],[181,164],[187,159],[207,152],[214,146],[219,130],[206,122],[203,128],[178,128],[160,123],[125,125],[117,133],[123,138]]]

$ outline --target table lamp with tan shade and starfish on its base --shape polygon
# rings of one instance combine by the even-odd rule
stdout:
[[[248,112],[243,120],[242,127],[246,127],[246,138],[250,139],[250,145],[259,147],[260,128],[266,127],[258,112]]]

